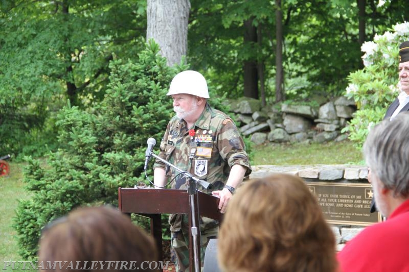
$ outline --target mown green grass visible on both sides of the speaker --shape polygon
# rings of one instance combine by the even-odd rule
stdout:
[[[265,144],[253,147],[253,165],[313,165],[313,164],[362,164],[361,152],[350,141],[324,144]],[[22,183],[22,163],[10,163],[9,177],[0,178],[0,263],[22,260],[17,254],[16,231],[12,227],[12,218],[18,199],[27,199],[29,193]],[[7,270],[12,271],[11,267]],[[18,269],[19,270],[19,269]]]

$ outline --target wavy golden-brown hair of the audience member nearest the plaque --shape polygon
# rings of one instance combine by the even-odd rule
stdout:
[[[246,182],[219,232],[224,271],[332,272],[335,238],[303,180],[277,174]]]

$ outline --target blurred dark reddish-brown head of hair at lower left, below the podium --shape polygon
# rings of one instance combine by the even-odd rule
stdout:
[[[43,231],[38,255],[44,263],[73,262],[70,270],[77,262],[81,268],[93,261],[136,262],[137,266],[157,261],[153,239],[129,217],[108,207],[79,208],[58,219]]]

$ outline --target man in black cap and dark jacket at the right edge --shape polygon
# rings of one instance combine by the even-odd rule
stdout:
[[[399,87],[400,93],[383,119],[393,119],[398,113],[409,111],[409,41],[399,45]],[[371,170],[368,172],[368,180],[371,182]],[[376,212],[375,199],[372,199],[371,212]]]

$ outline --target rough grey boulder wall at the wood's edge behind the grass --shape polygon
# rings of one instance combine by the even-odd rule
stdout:
[[[269,142],[341,141],[347,135],[340,131],[356,110],[355,102],[345,96],[324,100],[317,106],[282,104],[261,106],[259,100],[242,97],[228,101],[237,114],[236,124],[255,144]]]

